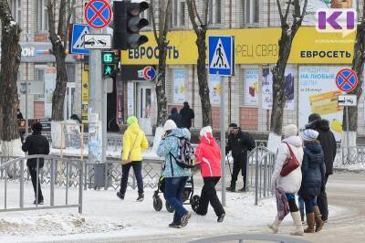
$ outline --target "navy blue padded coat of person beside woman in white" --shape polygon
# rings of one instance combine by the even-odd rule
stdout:
[[[298,194],[302,197],[319,195],[326,171],[320,144],[306,145],[301,170],[303,179]]]

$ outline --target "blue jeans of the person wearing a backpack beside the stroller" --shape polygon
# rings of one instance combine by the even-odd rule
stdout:
[[[167,202],[175,208],[173,223],[181,224],[182,217],[188,211],[183,207],[183,188],[185,187],[188,176],[166,177],[164,196]]]

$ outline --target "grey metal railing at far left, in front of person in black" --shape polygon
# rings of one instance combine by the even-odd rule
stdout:
[[[36,206],[26,207],[24,206],[24,183],[29,180],[29,172],[26,169],[26,160],[36,159]],[[39,167],[40,159],[44,160],[44,168]],[[51,155],[27,155],[25,157],[10,158],[2,157],[2,164],[0,164],[0,179],[4,181],[4,208],[0,207],[0,212],[5,211],[21,211],[21,210],[35,210],[35,209],[49,209],[49,208],[66,208],[66,207],[78,207],[78,213],[82,213],[82,186],[83,186],[83,174],[84,167],[78,160],[71,160],[68,158],[60,158]],[[62,168],[65,165],[64,168]],[[12,168],[11,175],[9,176],[9,168]],[[65,176],[64,178],[63,175]],[[76,181],[75,179],[78,178]],[[19,207],[7,206],[7,184],[8,181],[19,180]],[[49,206],[39,206],[38,202],[38,183],[49,184]],[[55,185],[65,187],[66,200],[65,204],[55,205]],[[70,186],[78,186],[78,203],[69,204],[68,190]]]

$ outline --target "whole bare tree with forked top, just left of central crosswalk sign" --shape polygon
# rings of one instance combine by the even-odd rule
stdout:
[[[209,96],[209,86],[206,74],[206,31],[208,29],[209,0],[203,0],[203,19],[199,15],[195,0],[186,0],[190,21],[196,34],[196,47],[198,48],[197,73],[199,95],[202,102],[203,126],[212,125],[212,106]]]

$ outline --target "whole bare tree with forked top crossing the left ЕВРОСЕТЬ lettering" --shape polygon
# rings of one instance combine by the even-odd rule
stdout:
[[[160,6],[156,5],[160,2]],[[154,12],[158,12],[158,23],[154,17]],[[157,97],[157,126],[162,126],[167,118],[167,100],[166,100],[166,55],[169,40],[167,33],[169,32],[169,19],[172,14],[172,0],[151,0],[151,21],[153,35],[159,50],[159,65],[157,67],[156,80],[156,97]]]

